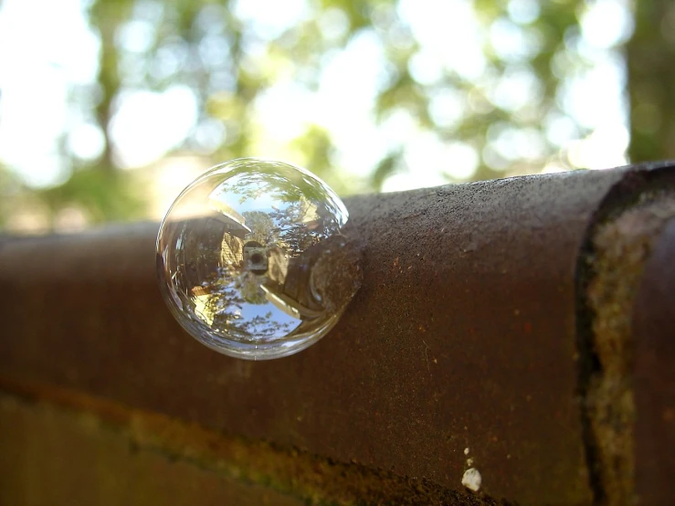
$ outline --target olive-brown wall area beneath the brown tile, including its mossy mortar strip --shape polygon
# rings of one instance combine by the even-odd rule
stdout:
[[[0,504],[509,506],[68,389],[11,386],[19,396],[0,394]]]

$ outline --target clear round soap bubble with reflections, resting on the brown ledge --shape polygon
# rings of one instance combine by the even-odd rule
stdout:
[[[338,321],[361,285],[347,210],[288,163],[232,160],[175,199],[157,237],[174,317],[217,352],[250,360],[297,353]]]

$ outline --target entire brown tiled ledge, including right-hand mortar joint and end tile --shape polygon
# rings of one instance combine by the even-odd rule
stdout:
[[[154,224],[5,240],[0,387],[24,400],[0,415],[89,413],[302,501],[672,501],[674,202],[669,163],[353,197],[362,289],[320,343],[263,363],[174,322]]]

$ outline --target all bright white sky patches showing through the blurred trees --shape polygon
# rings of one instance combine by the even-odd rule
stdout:
[[[67,176],[58,158],[63,132],[69,132],[65,139],[69,149],[83,159],[96,157],[102,148],[101,133],[87,111],[67,107],[69,90],[95,80],[99,41],[87,25],[80,0],[4,0],[1,5],[0,160],[27,184],[58,184]],[[569,148],[573,166],[606,168],[627,161],[626,69],[616,48],[632,28],[627,5],[628,0],[590,4],[582,17],[583,37],[577,49],[592,63],[591,68],[569,79],[561,90],[559,100],[569,116],[552,117],[546,124],[548,139]],[[523,35],[518,23],[536,18],[538,9],[535,0],[511,0],[511,20],[496,24],[488,34],[512,63],[512,70],[490,99],[496,103],[517,109],[537,92],[521,64],[536,41]],[[260,33],[274,35],[308,16],[310,9],[307,0],[239,0],[234,12],[254,22]],[[444,69],[479,82],[483,79],[483,36],[469,0],[400,0],[398,12],[421,45],[411,63],[415,79],[433,83]],[[324,17],[322,23],[334,36],[346,28],[339,11],[328,11]],[[123,43],[143,45],[142,26],[137,27],[125,31]],[[435,133],[421,131],[403,110],[375,126],[374,96],[385,79],[383,58],[379,40],[366,31],[330,57],[318,92],[309,93],[291,80],[290,73],[281,74],[277,84],[256,102],[262,133],[256,153],[248,154],[288,158],[292,138],[305,125],[316,123],[332,132],[336,162],[353,174],[368,174],[391,145],[405,141],[405,161],[414,174],[394,175],[385,182],[385,191],[443,184],[444,173],[469,177],[478,153],[468,144],[441,142]],[[467,103],[467,97],[457,92],[440,92],[431,102],[430,113],[439,123],[452,124],[461,118]],[[184,86],[163,93],[126,92],[119,104],[111,136],[119,162],[129,168],[160,158],[185,138],[197,119],[195,96]],[[570,117],[593,133],[578,139]],[[493,147],[502,157],[535,159],[541,153],[544,139],[540,132],[503,131],[499,125],[492,130]],[[448,160],[452,160],[450,167]],[[561,167],[550,163],[544,171]]]

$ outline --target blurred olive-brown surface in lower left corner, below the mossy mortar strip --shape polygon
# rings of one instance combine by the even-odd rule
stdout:
[[[166,459],[90,414],[0,395],[0,504],[303,506],[307,502],[185,459]]]

